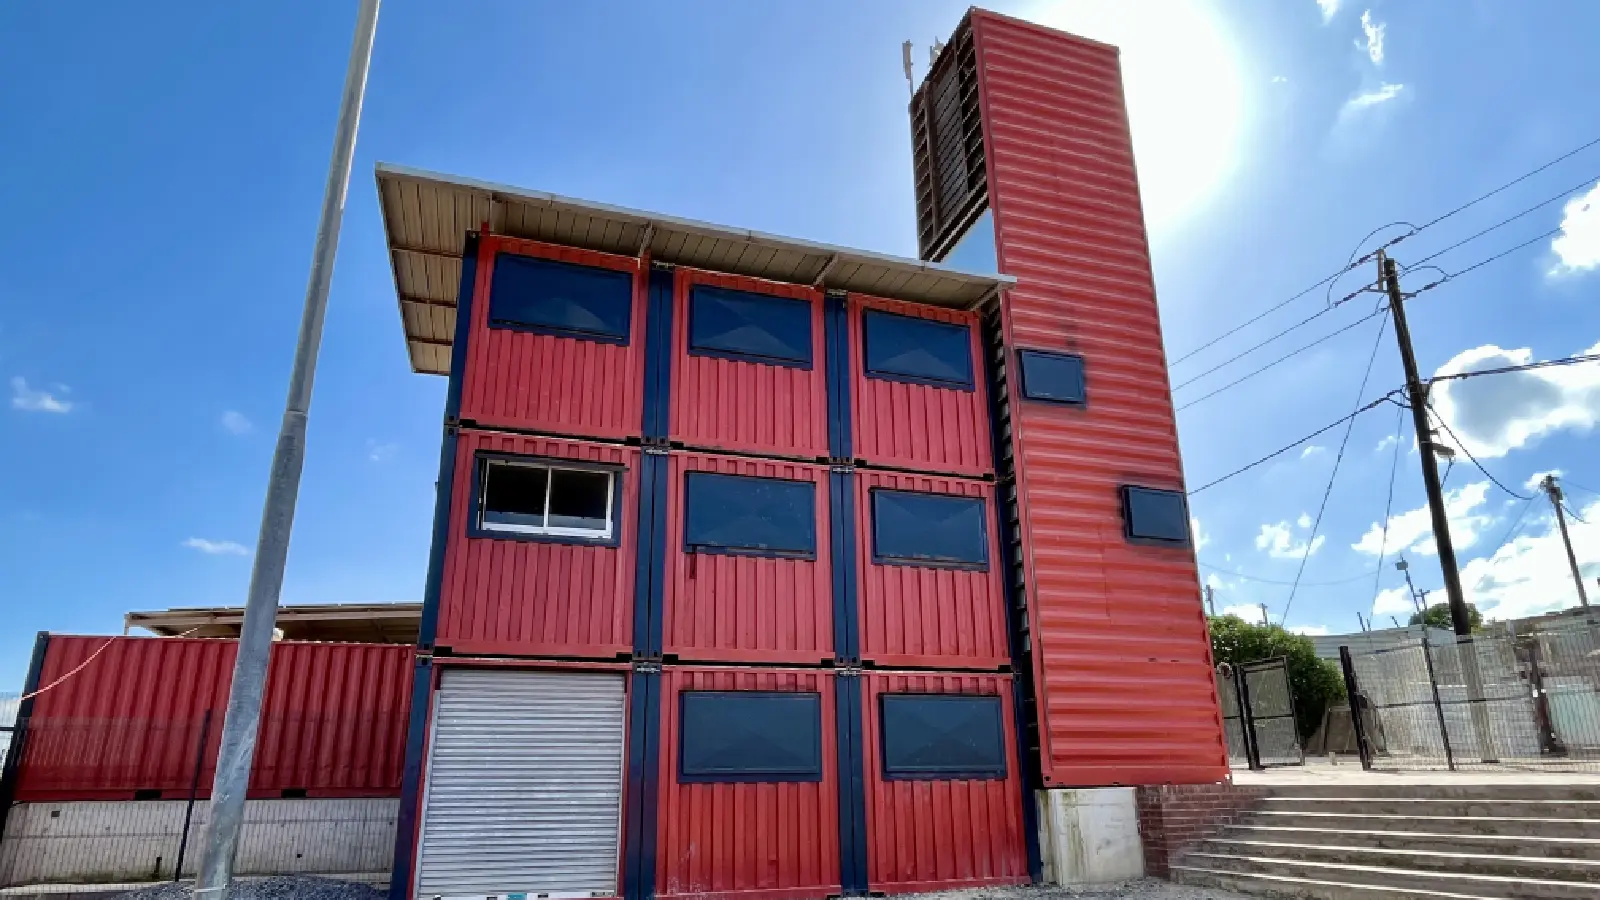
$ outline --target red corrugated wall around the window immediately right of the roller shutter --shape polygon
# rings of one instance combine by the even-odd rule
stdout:
[[[822,780],[680,785],[678,693],[795,690],[822,695]],[[838,761],[834,674],[797,669],[667,666],[661,692],[661,807],[656,895],[805,900],[838,894]]]

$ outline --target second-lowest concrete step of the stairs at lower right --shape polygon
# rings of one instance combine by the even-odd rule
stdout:
[[[1504,850],[1506,847],[1502,847]],[[1275,842],[1211,839],[1195,847],[1198,854],[1274,860],[1347,863],[1355,866],[1494,874],[1517,879],[1594,881],[1600,884],[1600,862],[1515,854],[1461,854],[1419,849],[1358,847],[1346,842]]]

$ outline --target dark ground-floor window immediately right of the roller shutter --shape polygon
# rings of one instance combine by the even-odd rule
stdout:
[[[773,690],[678,695],[678,781],[821,781],[822,697]]]

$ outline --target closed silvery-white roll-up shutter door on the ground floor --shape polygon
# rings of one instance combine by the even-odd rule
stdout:
[[[434,701],[418,897],[611,897],[621,674],[454,669]]]

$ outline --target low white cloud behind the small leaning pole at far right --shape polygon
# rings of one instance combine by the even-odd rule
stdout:
[[[1566,533],[1592,597],[1600,577],[1600,500],[1579,516],[1582,522],[1568,517]],[[1542,525],[1542,533],[1525,528],[1491,556],[1480,556],[1461,569],[1467,601],[1477,604],[1485,617],[1517,618],[1578,605],[1578,588],[1554,516],[1544,516]]]

